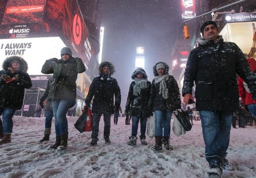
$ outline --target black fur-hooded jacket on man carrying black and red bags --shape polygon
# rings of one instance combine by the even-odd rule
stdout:
[[[102,68],[109,67],[109,75],[103,76]],[[114,95],[115,95],[115,109],[119,109],[121,103],[121,92],[118,83],[111,75],[115,72],[114,66],[111,62],[105,61],[99,65],[99,75],[92,80],[89,87],[88,95],[86,96],[86,106],[92,103],[92,113],[114,113]]]

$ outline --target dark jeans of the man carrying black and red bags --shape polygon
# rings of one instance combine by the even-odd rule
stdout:
[[[104,119],[104,136],[110,135],[110,113],[103,113]],[[92,120],[92,139],[98,139],[99,135],[99,121],[101,120],[101,113],[93,113]]]

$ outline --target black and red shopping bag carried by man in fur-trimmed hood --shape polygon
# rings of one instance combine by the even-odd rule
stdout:
[[[85,109],[81,114],[81,116],[79,116],[74,126],[80,133],[91,132],[92,119],[93,119],[93,115],[92,115],[91,109],[90,108]]]

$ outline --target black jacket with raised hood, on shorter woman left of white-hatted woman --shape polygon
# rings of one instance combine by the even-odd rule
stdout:
[[[145,70],[138,67],[132,73],[133,80],[135,78],[137,78],[138,73],[142,74],[142,76],[143,76],[142,78],[144,78],[144,79],[148,78]],[[132,116],[136,116],[138,118],[148,118],[148,117],[150,117],[150,109],[148,109],[148,100],[150,97],[151,82],[147,81],[147,88],[141,89],[141,93],[138,96],[133,95],[134,85],[135,85],[135,82],[132,81],[130,84],[130,87],[129,87],[125,110],[130,111],[130,109],[131,109]]]

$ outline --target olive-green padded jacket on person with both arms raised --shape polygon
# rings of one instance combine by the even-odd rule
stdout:
[[[52,74],[54,82],[50,87],[49,99],[76,100],[76,79],[78,73],[85,72],[85,65],[82,59],[76,57],[69,60],[52,58],[46,60],[42,70],[44,74]]]

